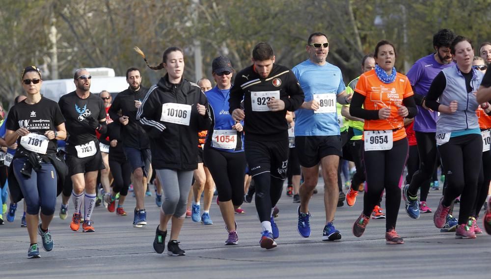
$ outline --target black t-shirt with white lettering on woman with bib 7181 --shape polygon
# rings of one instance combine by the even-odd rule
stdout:
[[[65,122],[65,118],[55,101],[41,97],[41,101],[36,104],[27,104],[24,100],[13,106],[6,121],[7,130],[17,131],[24,127],[31,133],[44,135],[46,131],[56,131],[56,126]],[[17,142],[21,146],[21,137]],[[56,140],[50,140],[47,153],[55,153],[56,148]]]

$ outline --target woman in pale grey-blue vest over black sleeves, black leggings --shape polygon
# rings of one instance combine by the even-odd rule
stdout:
[[[483,73],[472,68],[473,48],[469,39],[457,36],[450,45],[456,64],[436,75],[426,97],[426,106],[440,112],[436,123],[436,144],[448,179],[447,189],[433,216],[437,228],[445,224],[452,202],[460,196],[459,225],[455,237],[476,238],[473,209],[481,169],[483,138],[476,115],[475,92]],[[484,105],[483,105],[484,107]],[[419,141],[418,141],[419,144]],[[414,179],[414,178],[413,178]]]

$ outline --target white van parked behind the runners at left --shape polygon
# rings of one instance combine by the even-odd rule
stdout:
[[[114,70],[111,68],[86,68],[92,76],[90,92],[99,94],[102,90],[107,90],[114,97],[115,94],[128,88],[126,77],[115,77]],[[60,97],[75,91],[73,79],[43,81],[41,94],[44,97],[58,102]]]

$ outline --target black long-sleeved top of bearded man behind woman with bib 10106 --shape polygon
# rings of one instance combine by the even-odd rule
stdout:
[[[138,91],[133,91],[128,87],[128,89],[116,95],[109,108],[109,116],[115,123],[121,125],[121,139],[123,140],[124,147],[133,147],[136,149],[150,148],[148,136],[141,127],[140,122],[136,120],[137,109],[135,108],[135,101],[142,102],[147,92],[148,88],[143,86],[140,86]],[[122,115],[128,116],[127,125],[119,122],[119,110],[121,110]]]

